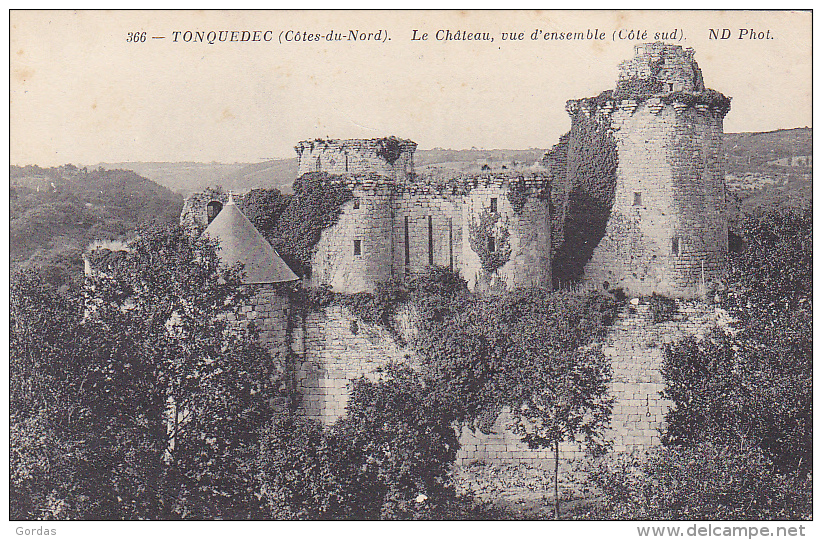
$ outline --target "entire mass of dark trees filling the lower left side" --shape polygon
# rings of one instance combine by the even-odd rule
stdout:
[[[249,456],[278,388],[251,330],[228,324],[238,284],[176,226],[140,229],[82,297],[15,280],[16,519],[248,516]]]

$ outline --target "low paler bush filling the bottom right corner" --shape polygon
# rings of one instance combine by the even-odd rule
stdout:
[[[604,504],[597,519],[810,519],[811,478],[779,474],[759,450],[701,444],[665,448],[645,461],[599,461],[589,479]]]

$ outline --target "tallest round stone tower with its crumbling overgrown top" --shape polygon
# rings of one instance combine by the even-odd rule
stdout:
[[[705,88],[694,51],[664,43],[637,45],[615,90],[568,102],[569,175],[592,155],[607,162],[595,179],[602,212],[593,212],[604,231],[587,239],[585,280],[677,297],[704,294],[718,280],[728,251],[722,136],[729,109],[729,98]],[[576,140],[580,134],[598,141],[600,154],[583,155],[590,141]],[[574,170],[591,174],[584,164]],[[569,181],[593,185],[581,177]],[[575,196],[572,187],[571,205]]]

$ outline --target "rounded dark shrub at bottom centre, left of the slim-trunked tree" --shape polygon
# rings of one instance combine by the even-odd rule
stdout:
[[[447,395],[391,365],[385,380],[354,381],[347,411],[334,432],[350,445],[348,466],[364,486],[359,506],[368,517],[433,518],[453,504],[459,441]]]

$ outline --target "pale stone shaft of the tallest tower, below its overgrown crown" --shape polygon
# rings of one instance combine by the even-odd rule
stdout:
[[[702,294],[728,249],[722,113],[658,98],[618,103],[616,192],[585,279],[631,294]]]

